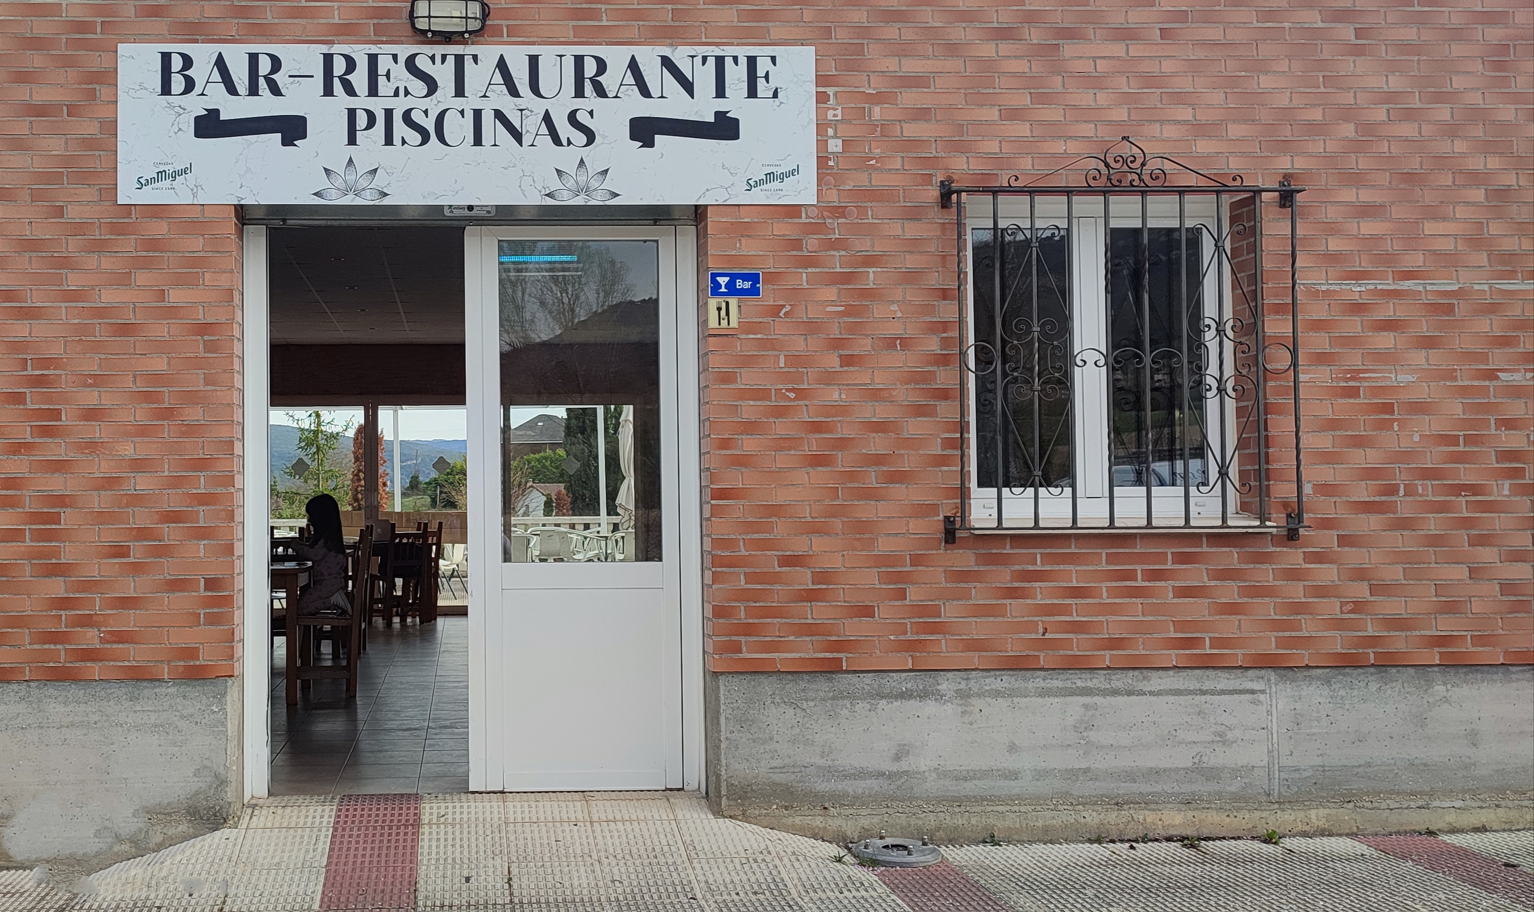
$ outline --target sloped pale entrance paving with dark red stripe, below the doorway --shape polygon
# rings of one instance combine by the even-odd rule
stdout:
[[[92,875],[75,903],[0,872],[0,910],[908,912],[836,846],[693,794],[400,799],[267,799],[236,829]]]

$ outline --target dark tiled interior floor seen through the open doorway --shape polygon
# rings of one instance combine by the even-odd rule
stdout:
[[[368,632],[357,696],[316,681],[282,702],[273,641],[272,794],[457,792],[469,788],[468,618]]]

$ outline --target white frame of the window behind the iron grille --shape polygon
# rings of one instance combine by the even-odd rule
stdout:
[[[971,264],[971,268],[966,270],[968,300],[965,302],[969,313],[965,314],[963,320],[971,333],[971,337],[963,339],[966,357],[969,357],[968,346],[971,343],[985,342],[973,337],[974,307],[980,300],[973,264],[977,253],[974,231],[977,228],[991,230],[994,227],[991,199],[979,195],[965,199],[966,212],[963,225],[965,244],[968,245],[965,254]],[[1241,472],[1235,452],[1236,403],[1229,397],[1218,397],[1206,403],[1207,432],[1210,435],[1226,435],[1226,440],[1216,446],[1218,452],[1230,458],[1230,469],[1226,480],[1216,480],[1215,484],[1206,483],[1203,487],[1207,490],[1201,490],[1201,486],[1195,483],[1187,503],[1184,503],[1183,484],[1152,486],[1149,518],[1146,515],[1146,487],[1143,484],[1114,487],[1112,498],[1109,498],[1111,452],[1108,422],[1111,412],[1108,395],[1111,368],[1108,359],[1092,357],[1095,353],[1106,353],[1109,343],[1104,274],[1104,245],[1109,242],[1109,236],[1104,230],[1104,199],[1108,201],[1108,212],[1112,219],[1111,228],[1140,228],[1141,225],[1150,228],[1177,228],[1180,224],[1193,228],[1201,225],[1210,238],[1216,238],[1221,231],[1229,235],[1229,201],[1223,207],[1226,212],[1218,213],[1216,218],[1216,204],[1212,195],[1189,195],[1180,221],[1178,198],[1169,195],[1146,196],[1144,219],[1141,219],[1141,198],[1138,195],[1120,193],[1104,196],[1078,193],[1068,212],[1063,195],[1046,196],[1040,193],[1032,198],[1032,216],[1029,216],[1031,199],[1026,195],[1003,195],[994,199],[1000,199],[999,221],[1003,230],[1008,225],[1019,225],[1023,231],[1029,230],[1029,224],[1035,230],[1048,225],[1066,225],[1068,216],[1072,222],[1066,225],[1071,231],[1072,259],[1069,288],[1071,343],[1074,353],[1088,356],[1074,359],[1077,363],[1072,365],[1072,409],[1075,420],[1071,440],[1071,478],[1072,484],[1078,486],[1078,489],[1075,490],[1075,503],[1072,504],[1071,487],[1051,490],[1043,487],[1009,489],[1003,486],[999,521],[997,489],[980,484],[979,448],[989,443],[989,440],[980,438],[979,412],[976,411],[979,385],[969,382],[966,383],[965,395],[968,397],[966,414],[971,420],[965,431],[969,435],[966,475],[971,524],[974,527],[999,526],[1008,530],[1069,527],[1072,526],[1074,510],[1077,526],[1085,527],[1109,527],[1109,513],[1112,513],[1112,527],[1184,526],[1184,520],[1193,526],[1255,526],[1258,523],[1256,517],[1238,509],[1241,498],[1233,481],[1239,478]],[[1224,316],[1229,319],[1236,303],[1230,264],[1220,256],[1218,248],[1212,242],[1204,242],[1200,254],[1204,276],[1201,297],[1204,313],[1206,316],[1213,314],[1220,300],[1216,297],[1220,294],[1218,285],[1220,282],[1226,282]],[[1224,345],[1223,349],[1223,376],[1230,377],[1235,368],[1235,354],[1230,345]],[[1098,360],[1103,363],[1098,363]],[[1206,478],[1216,478],[1218,469],[1207,457],[1204,460]],[[1226,489],[1224,498],[1221,498],[1221,487]],[[1112,507],[1109,507],[1109,500],[1112,500]]]

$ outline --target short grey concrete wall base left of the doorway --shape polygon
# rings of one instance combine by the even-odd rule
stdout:
[[[0,684],[0,866],[54,883],[239,811],[239,682]]]

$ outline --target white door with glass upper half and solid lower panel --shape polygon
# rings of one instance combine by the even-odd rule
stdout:
[[[675,230],[465,250],[471,788],[681,788]]]

